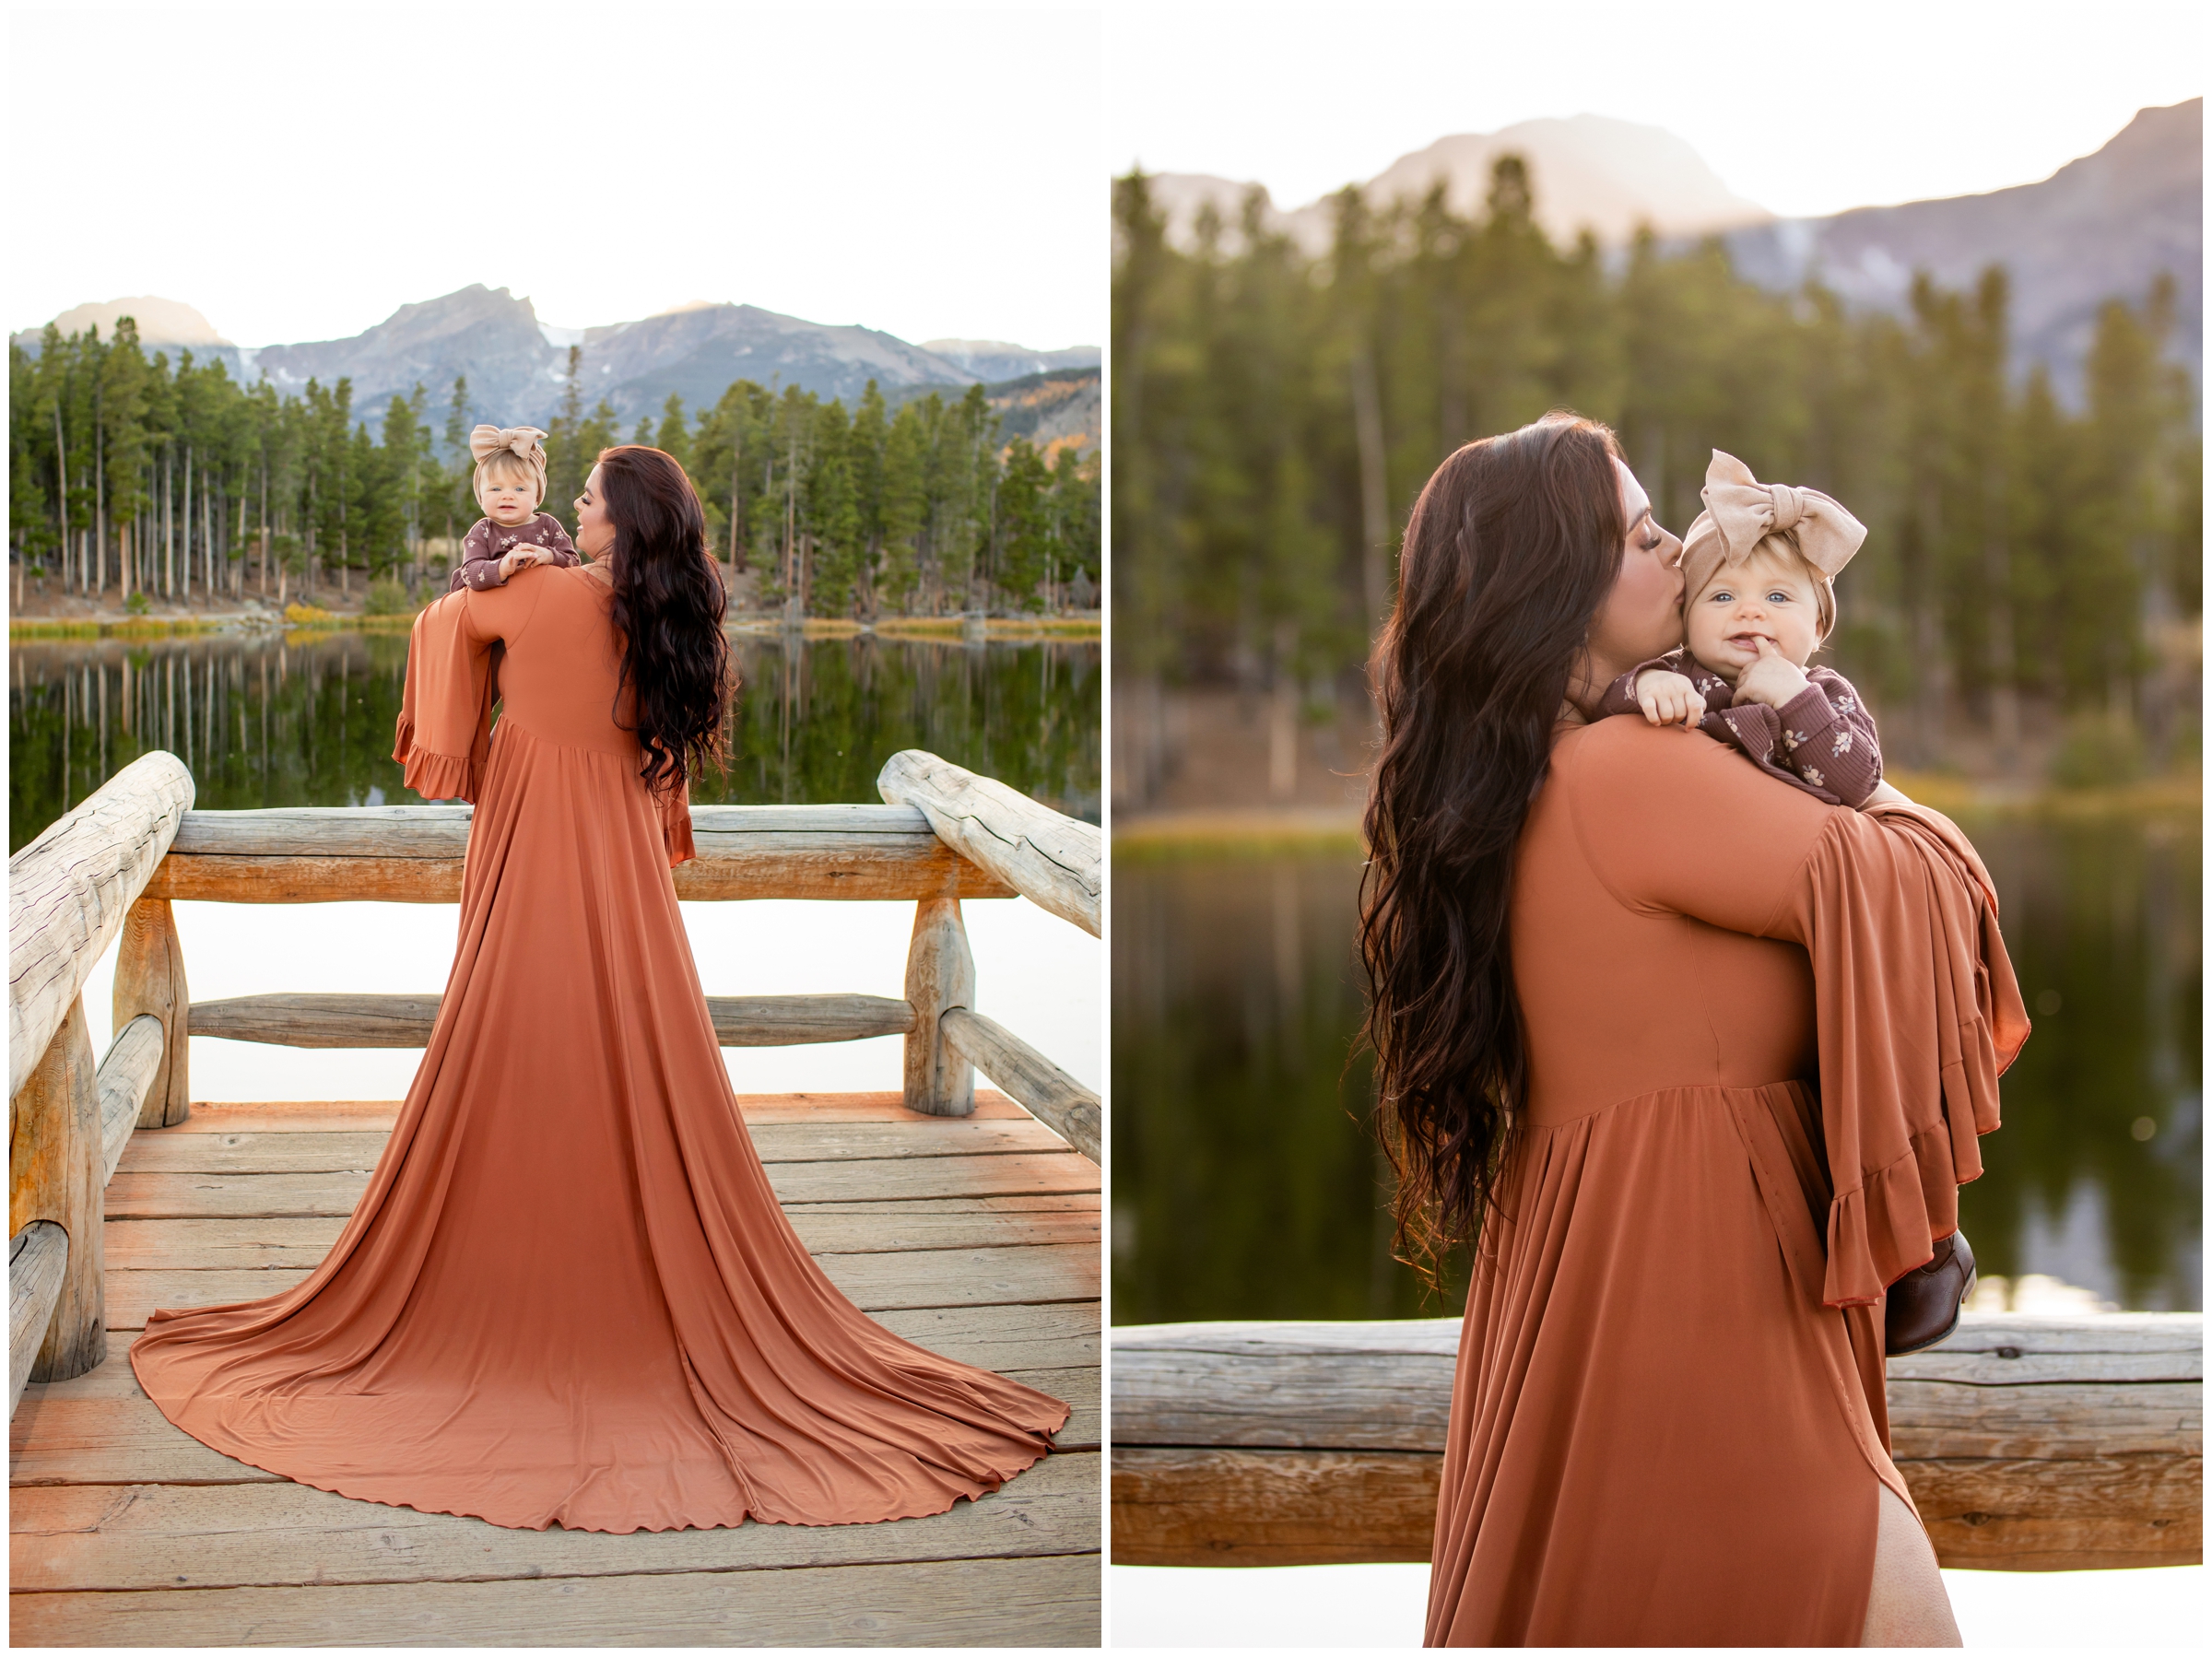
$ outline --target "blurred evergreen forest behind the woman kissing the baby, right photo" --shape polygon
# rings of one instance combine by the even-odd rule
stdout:
[[[1944,763],[1964,734],[2011,768],[2024,728],[2073,730],[2093,765],[2194,757],[2203,445],[2166,352],[2170,285],[2101,308],[2062,398],[2013,363],[1995,265],[1969,292],[1920,277],[1891,316],[1816,283],[1756,288],[1719,241],[1555,246],[1517,157],[1471,217],[1440,190],[1389,208],[1343,190],[1321,254],[1265,232],[1261,206],[1201,212],[1181,248],[1148,179],[1115,181],[1113,648],[1133,759],[1157,757],[1161,692],[1186,684],[1325,717],[1389,608],[1431,469],[1546,409],[1613,425],[1674,533],[1710,449],[1845,502],[1871,533],[1827,659],[1900,763]]]

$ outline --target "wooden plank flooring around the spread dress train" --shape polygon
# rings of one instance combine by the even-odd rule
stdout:
[[[832,1281],[896,1334],[1066,1398],[1055,1453],[891,1524],[504,1531],[354,1502],[168,1425],[146,1312],[259,1299],[336,1241],[389,1102],[195,1104],[108,1186],[108,1361],[11,1422],[18,1646],[1091,1646],[1099,1637],[1099,1175],[995,1093],[741,1100]]]

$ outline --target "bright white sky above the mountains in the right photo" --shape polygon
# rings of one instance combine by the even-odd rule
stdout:
[[[1449,133],[1663,126],[1785,217],[2000,190],[2205,88],[2203,0],[1119,4],[1115,173],[1256,179],[1296,208]]]

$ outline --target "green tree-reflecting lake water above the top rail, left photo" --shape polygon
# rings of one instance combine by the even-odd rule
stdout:
[[[1099,821],[1099,646],[739,635],[730,770],[703,803],[876,801],[900,748]],[[385,805],[398,633],[24,639],[9,664],[9,852],[139,754],[192,768],[206,810]]]

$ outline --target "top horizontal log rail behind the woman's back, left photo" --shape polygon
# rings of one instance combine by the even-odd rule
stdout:
[[[1044,810],[1044,807],[1037,807]],[[186,812],[146,894],[212,903],[460,903],[469,805]],[[1011,898],[911,805],[695,805],[677,898]]]

